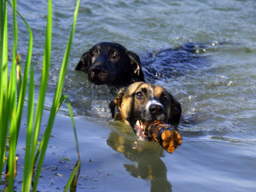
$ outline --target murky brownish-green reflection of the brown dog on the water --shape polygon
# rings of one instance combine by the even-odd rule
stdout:
[[[115,123],[117,130],[122,131]],[[127,129],[131,127],[126,126]],[[150,179],[151,191],[171,192],[172,185],[167,180],[165,163],[160,159],[163,149],[156,143],[137,141],[134,137],[126,137],[123,132],[111,131],[107,140],[108,145],[114,150],[125,155],[125,158],[134,162],[124,164],[127,172],[133,177]],[[126,131],[127,132],[127,131]]]

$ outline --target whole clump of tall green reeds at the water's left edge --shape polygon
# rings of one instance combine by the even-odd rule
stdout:
[[[71,173],[67,181],[65,191],[67,189],[75,190],[76,182],[79,177],[79,167],[80,167],[80,157],[79,157],[79,145],[77,134],[75,130],[75,125],[73,121],[73,113],[71,110],[70,102],[67,96],[61,96],[62,86],[64,82],[65,73],[67,70],[67,63],[70,54],[70,49],[73,41],[73,33],[76,25],[78,10],[79,10],[79,0],[74,12],[73,27],[70,33],[70,37],[67,43],[67,49],[63,58],[61,72],[59,77],[59,82],[55,90],[55,97],[52,103],[52,107],[49,114],[49,120],[47,128],[44,131],[44,137],[39,147],[38,134],[40,131],[41,120],[44,109],[44,100],[48,84],[49,76],[49,66],[50,66],[50,53],[51,53],[51,37],[52,37],[52,2],[49,0],[48,4],[48,18],[46,27],[46,37],[44,46],[44,61],[43,61],[43,72],[41,78],[41,84],[38,94],[38,105],[36,108],[35,118],[34,118],[34,73],[33,67],[31,67],[32,59],[32,30],[30,26],[26,23],[26,20],[19,14],[16,10],[16,0],[9,3],[13,8],[13,55],[12,55],[12,65],[10,73],[8,72],[8,16],[7,16],[7,0],[1,0],[0,4],[0,17],[1,17],[1,71],[0,71],[0,172],[5,169],[5,178],[8,180],[8,190],[13,191],[15,185],[15,174],[16,174],[16,147],[20,132],[20,122],[22,118],[22,112],[24,107],[24,101],[26,96],[26,87],[29,80],[29,90],[28,90],[28,104],[27,104],[27,124],[26,124],[26,152],[25,152],[25,162],[24,162],[24,172],[23,172],[23,183],[22,191],[37,191],[38,181],[40,172],[44,162],[44,156],[46,154],[47,146],[49,143],[49,136],[52,131],[55,114],[61,106],[61,103],[65,99],[67,101],[67,108],[70,113],[73,124],[73,132],[76,141],[76,148],[78,153],[78,161],[76,166]],[[16,13],[25,22],[27,30],[29,33],[29,46],[27,49],[26,56],[26,66],[23,73],[23,78],[21,78],[21,68],[20,68],[20,56],[17,55],[17,44],[18,44],[18,25],[16,20]],[[29,71],[31,68],[30,78]],[[17,76],[15,76],[15,72]],[[17,102],[16,102],[17,101]],[[9,136],[9,139],[8,139]],[[9,152],[6,153],[6,146],[9,144]],[[8,159],[6,162],[5,159]],[[35,174],[33,174],[36,168]],[[0,177],[0,181],[3,177]]]

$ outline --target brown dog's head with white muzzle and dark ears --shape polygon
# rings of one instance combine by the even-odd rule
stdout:
[[[115,106],[118,113],[115,115]],[[124,121],[136,130],[137,120],[151,122],[160,120],[177,125],[181,116],[181,106],[163,87],[155,84],[136,82],[119,90],[118,96],[109,103],[112,117]]]

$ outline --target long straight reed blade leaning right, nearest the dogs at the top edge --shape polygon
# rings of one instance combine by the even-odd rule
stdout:
[[[36,177],[35,177],[34,185],[33,185],[33,191],[36,191],[36,188],[37,188],[37,185],[38,185],[38,179],[39,179],[39,176],[40,176],[41,168],[42,168],[43,163],[44,163],[44,156],[45,156],[46,149],[47,149],[47,146],[48,146],[48,143],[49,143],[50,132],[52,130],[52,126],[53,126],[54,120],[55,120],[55,111],[56,111],[56,108],[58,106],[58,102],[60,101],[60,98],[61,98],[61,90],[62,90],[64,78],[65,78],[65,73],[66,73],[66,70],[67,70],[67,62],[68,62],[68,58],[69,58],[69,53],[70,53],[72,40],[73,40],[73,33],[74,33],[74,30],[75,30],[77,15],[78,15],[78,11],[79,11],[79,2],[80,1],[78,0],[77,6],[76,6],[76,9],[75,9],[75,12],[74,12],[73,27],[72,27],[72,31],[70,33],[70,37],[69,37],[69,40],[68,40],[68,43],[67,43],[66,53],[64,55],[64,59],[63,59],[63,62],[62,62],[60,78],[59,78],[59,81],[58,81],[58,84],[57,84],[57,88],[55,90],[55,98],[54,98],[54,102],[52,104],[52,108],[51,108],[51,111],[50,111],[50,114],[49,114],[48,125],[47,125],[45,133],[44,133],[45,134],[45,144],[42,148],[42,152],[41,152],[40,157],[39,157],[37,173],[36,173]],[[51,1],[50,0],[49,0],[49,8],[50,8],[50,11],[51,11]]]

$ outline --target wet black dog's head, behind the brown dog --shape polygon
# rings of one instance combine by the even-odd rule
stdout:
[[[102,42],[85,52],[76,70],[88,73],[94,84],[131,84],[144,81],[141,61],[121,44]]]

